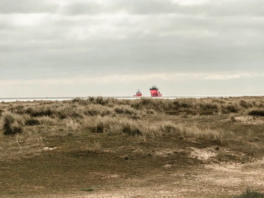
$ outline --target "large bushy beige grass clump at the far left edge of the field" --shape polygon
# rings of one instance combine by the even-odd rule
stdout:
[[[2,120],[5,135],[22,133],[24,131],[24,122],[20,115],[4,112]]]

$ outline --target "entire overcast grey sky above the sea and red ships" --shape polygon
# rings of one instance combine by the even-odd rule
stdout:
[[[264,94],[262,0],[1,0],[0,97]]]

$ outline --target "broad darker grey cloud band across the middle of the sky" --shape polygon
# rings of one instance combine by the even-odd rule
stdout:
[[[25,73],[31,72],[30,75],[32,68],[48,69],[46,72],[33,71],[38,77],[56,76],[62,71],[83,73],[85,70],[91,71],[93,76],[97,74],[263,70],[260,67],[263,62],[262,53],[254,49],[254,46],[239,49],[238,46],[224,45],[220,41],[206,38],[197,42],[196,40],[175,39],[175,37],[149,36],[148,39],[133,39],[129,43],[122,40],[101,40],[79,41],[74,45],[66,42],[64,45],[62,43],[59,45],[60,50],[32,48],[27,53],[11,53],[1,58],[0,64],[14,71],[23,66]],[[81,46],[87,50],[78,50]],[[13,58],[14,56],[16,59]]]

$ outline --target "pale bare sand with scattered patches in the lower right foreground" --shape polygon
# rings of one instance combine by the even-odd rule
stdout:
[[[190,157],[197,157],[204,162],[198,171],[190,173],[179,173],[167,175],[166,182],[162,185],[151,187],[119,188],[111,191],[78,192],[78,194],[54,195],[50,197],[67,198],[136,198],[136,197],[230,197],[245,191],[247,185],[255,188],[264,186],[264,158],[255,160],[252,163],[241,164],[232,162],[210,163],[215,156],[213,148],[197,149],[188,148],[191,151]],[[167,153],[159,151],[158,154]],[[164,164],[164,168],[172,165]],[[100,173],[92,173],[100,174]],[[118,179],[119,175],[102,175]],[[180,179],[178,179],[180,176]],[[133,182],[139,182],[137,180]]]

